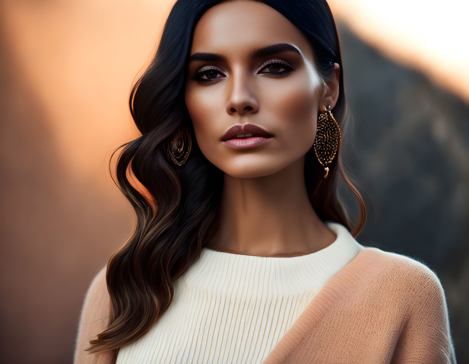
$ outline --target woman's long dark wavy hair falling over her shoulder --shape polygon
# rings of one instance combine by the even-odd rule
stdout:
[[[86,350],[91,353],[117,351],[148,332],[172,302],[173,281],[199,258],[217,229],[223,171],[200,152],[185,105],[184,88],[194,28],[208,8],[223,1],[227,0],[177,0],[155,57],[130,92],[130,112],[142,136],[114,151],[121,150],[116,164],[117,182],[114,177],[113,181],[132,204],[137,221],[129,240],[107,264],[112,311],[108,327],[90,341]],[[334,62],[340,65],[339,99],[332,111],[345,136],[348,112],[340,44],[327,2],[260,1],[284,15],[307,37],[323,80],[332,76]],[[192,149],[180,167],[167,158],[164,146],[182,127],[189,129]],[[313,147],[306,153],[304,178],[319,218],[346,226],[356,238],[365,224],[366,207],[362,194],[344,171],[343,139],[329,165],[328,178],[324,179],[324,167]],[[151,201],[129,182],[129,167]],[[353,230],[348,208],[338,193],[338,168],[359,203],[360,216]]]

